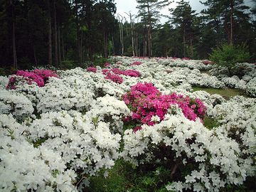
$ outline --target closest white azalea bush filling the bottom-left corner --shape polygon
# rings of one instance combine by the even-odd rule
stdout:
[[[24,136],[27,127],[0,114],[1,191],[75,191],[75,172],[53,150],[35,148]]]

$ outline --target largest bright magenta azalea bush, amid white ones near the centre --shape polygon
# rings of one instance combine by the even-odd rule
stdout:
[[[131,91],[123,95],[123,100],[132,111],[132,120],[149,126],[156,124],[151,120],[153,116],[158,116],[162,121],[171,105],[178,105],[184,116],[192,121],[196,121],[197,117],[202,120],[206,113],[206,106],[201,100],[192,100],[176,93],[163,95],[152,83],[147,82],[132,86]]]

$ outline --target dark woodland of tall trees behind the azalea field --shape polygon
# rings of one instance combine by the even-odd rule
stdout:
[[[91,65],[109,55],[205,59],[223,43],[243,45],[256,58],[256,1],[137,0],[138,15],[121,16],[113,0],[0,0],[0,68]]]

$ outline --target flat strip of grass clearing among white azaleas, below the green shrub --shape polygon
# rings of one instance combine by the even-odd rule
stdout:
[[[245,97],[248,97],[245,92],[242,92],[242,90],[237,90],[237,89],[231,89],[231,88],[226,88],[226,89],[214,89],[214,88],[209,88],[209,87],[193,87],[193,92],[203,90],[208,92],[210,95],[213,94],[218,94],[223,96],[226,100],[229,100],[231,97],[234,97],[236,95],[242,95]]]

